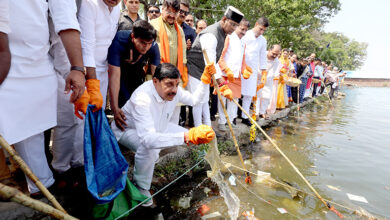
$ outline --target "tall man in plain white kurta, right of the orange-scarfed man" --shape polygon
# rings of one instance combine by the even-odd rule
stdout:
[[[243,37],[246,45],[245,61],[252,70],[253,74],[248,79],[242,79],[242,107],[249,113],[249,107],[252,98],[257,92],[257,81],[261,74],[267,69],[267,40],[263,37],[263,33],[268,27],[268,19],[261,17],[257,20],[255,27],[249,30]],[[250,126],[251,122],[244,114],[241,115],[242,123]]]

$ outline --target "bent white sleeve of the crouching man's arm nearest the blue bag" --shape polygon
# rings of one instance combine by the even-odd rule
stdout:
[[[134,118],[137,135],[146,148],[161,149],[184,144],[184,132],[161,133],[156,131],[155,122],[151,117],[150,109],[153,108],[153,102],[150,96],[146,93],[138,93],[129,101],[134,105],[131,114]]]

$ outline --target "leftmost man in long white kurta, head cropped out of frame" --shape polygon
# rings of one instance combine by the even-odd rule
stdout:
[[[27,163],[44,186],[54,183],[44,152],[43,131],[57,123],[57,79],[49,57],[50,12],[55,32],[60,35],[71,66],[82,68],[79,27],[74,1],[10,2],[9,45],[11,69],[0,87],[0,134]],[[67,92],[72,87],[70,101],[84,92],[85,76],[72,70],[67,76]],[[30,193],[39,189],[27,179]]]

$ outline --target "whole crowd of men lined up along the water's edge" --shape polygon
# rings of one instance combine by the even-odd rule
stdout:
[[[139,0],[123,0],[122,12],[120,0],[0,2],[0,135],[46,187],[55,179],[62,186],[77,183],[69,177],[84,165],[83,114],[88,104],[104,108],[107,94],[113,133],[135,152],[133,181],[150,196],[161,149],[208,143],[217,113],[217,133],[227,130],[212,77],[233,126],[237,118],[250,126],[233,99],[267,117],[317,96],[324,85],[333,97],[341,76],[315,54],[298,59],[280,45],[268,47],[268,19],[259,17],[251,27],[232,6],[207,26],[190,14],[188,0],[150,5],[148,20],[138,14]],[[286,85],[291,78],[302,81],[299,88]],[[50,128],[51,168],[44,147]]]

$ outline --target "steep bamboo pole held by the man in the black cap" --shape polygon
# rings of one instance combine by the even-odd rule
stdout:
[[[206,50],[203,50],[202,52],[203,52],[203,56],[204,56],[207,64],[210,63],[209,57],[207,56],[207,53],[206,53]],[[232,134],[234,146],[236,147],[236,150],[237,150],[238,156],[240,158],[242,167],[246,170],[244,159],[242,158],[242,154],[241,154],[241,151],[240,151],[240,147],[238,146],[236,136],[234,135],[233,127],[232,127],[232,125],[230,123],[229,115],[227,114],[227,111],[226,111],[226,108],[225,108],[225,104],[223,103],[223,100],[222,100],[221,91],[219,91],[219,86],[218,86],[217,80],[215,79],[214,75],[212,75],[212,80],[213,80],[213,83],[214,83],[214,88],[217,90],[218,99],[219,99],[219,101],[221,103],[223,112],[225,114],[225,117],[226,117],[229,129],[230,129],[230,133]],[[250,174],[248,172],[245,172],[245,176],[246,176],[245,182],[251,184],[252,183],[252,179],[250,177]]]

